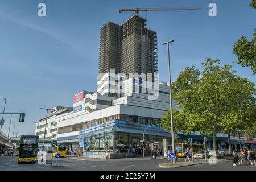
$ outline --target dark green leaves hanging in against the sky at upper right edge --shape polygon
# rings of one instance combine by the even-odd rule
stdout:
[[[251,40],[247,40],[246,36],[242,36],[234,44],[233,52],[238,57],[237,63],[242,67],[251,67],[253,74],[256,73],[256,29]]]

